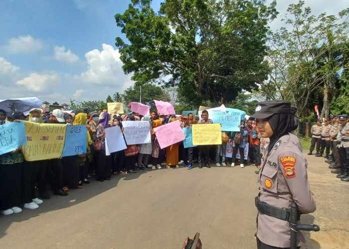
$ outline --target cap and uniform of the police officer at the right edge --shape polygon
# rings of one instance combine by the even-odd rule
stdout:
[[[347,120],[348,115],[340,115],[341,120]],[[341,157],[341,167],[337,177],[342,181],[349,182],[349,122],[346,125],[341,125],[337,135],[337,140],[341,143],[338,145]]]

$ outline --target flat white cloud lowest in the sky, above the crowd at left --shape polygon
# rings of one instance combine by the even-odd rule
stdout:
[[[40,93],[52,91],[54,83],[57,83],[57,74],[37,74],[31,73],[28,77],[16,82],[19,86],[24,86],[27,90]]]

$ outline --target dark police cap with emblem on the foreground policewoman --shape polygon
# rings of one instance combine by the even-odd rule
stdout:
[[[256,104],[256,113],[251,117],[255,119],[266,119],[274,114],[290,113],[291,103],[284,100],[263,101]]]

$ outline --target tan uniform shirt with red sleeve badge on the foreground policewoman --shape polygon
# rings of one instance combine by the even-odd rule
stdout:
[[[274,207],[290,209],[291,203],[295,202],[300,213],[312,213],[316,206],[308,183],[308,163],[300,150],[299,139],[294,136],[288,133],[280,137],[272,148],[267,148],[270,153],[266,152],[259,173],[261,190],[258,196],[261,202]],[[290,247],[288,221],[259,212],[256,235],[264,244]],[[305,242],[301,232],[297,234],[297,242],[298,246]]]

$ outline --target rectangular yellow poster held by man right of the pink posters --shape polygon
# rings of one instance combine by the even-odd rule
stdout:
[[[222,144],[220,124],[193,124],[192,144]]]

